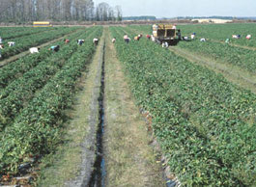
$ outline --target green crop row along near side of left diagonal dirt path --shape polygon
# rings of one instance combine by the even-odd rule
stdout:
[[[92,30],[92,28],[88,29],[87,34],[89,34],[91,32],[91,30]],[[82,30],[77,33],[71,34],[71,36],[69,36],[69,40],[71,40],[71,41],[77,40],[78,37],[81,35],[81,33],[84,33],[84,32],[85,31]],[[59,44],[61,47],[61,51],[63,51],[63,49],[62,49],[63,46],[65,48],[70,46],[70,45],[67,45],[63,40],[57,41],[53,44],[54,45]],[[53,45],[53,44],[51,44],[51,45]],[[23,73],[25,73],[32,67],[38,66],[42,61],[47,62],[48,60],[50,60],[51,55],[54,53],[52,53],[52,51],[48,50],[49,46],[43,47],[43,49],[40,50],[40,53],[31,54],[31,55],[21,57],[17,61],[14,61],[14,62],[6,65],[5,67],[0,68],[0,93],[5,87],[7,87],[12,81],[14,81],[14,79],[20,77]]]

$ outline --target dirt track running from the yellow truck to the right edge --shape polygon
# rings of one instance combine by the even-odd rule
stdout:
[[[181,56],[189,62],[196,63],[203,67],[221,73],[228,81],[236,84],[244,89],[250,90],[256,93],[256,75],[252,74],[240,67],[235,67],[226,63],[214,61],[211,58],[202,57],[188,50],[181,49],[177,46],[169,47],[169,49],[176,55]]]

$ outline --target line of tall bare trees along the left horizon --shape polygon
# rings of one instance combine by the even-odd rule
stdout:
[[[0,0],[0,22],[122,20],[120,6],[93,0]]]

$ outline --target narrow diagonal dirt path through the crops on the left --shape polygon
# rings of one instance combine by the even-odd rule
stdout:
[[[77,30],[75,30],[74,32],[77,32]],[[63,36],[63,37],[61,37],[61,38],[58,38],[58,39],[49,40],[49,41],[44,42],[43,44],[38,45],[38,46],[35,46],[35,47],[40,47],[40,48],[42,48],[42,47],[47,46],[47,45],[49,45],[50,43],[56,42],[56,41],[58,41],[58,40],[64,40],[65,38],[67,38],[67,37],[69,37],[71,34],[73,34],[74,32],[71,32],[71,33],[69,33],[69,34],[67,34],[67,35],[65,35],[65,36]],[[0,67],[4,67],[5,65],[7,65],[7,64],[9,64],[9,63],[12,63],[12,62],[18,60],[19,58],[24,57],[24,56],[26,56],[26,55],[28,55],[28,54],[30,54],[30,52],[29,52],[29,50],[26,50],[26,51],[24,51],[24,52],[21,52],[21,53],[18,53],[18,54],[16,54],[16,55],[12,56],[12,57],[9,57],[8,59],[5,59],[5,60],[3,60],[3,61],[0,62]]]

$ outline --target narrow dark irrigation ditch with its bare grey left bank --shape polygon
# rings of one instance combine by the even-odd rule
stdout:
[[[104,133],[104,37],[100,39],[97,72],[93,80],[92,99],[90,103],[89,126],[87,135],[81,144],[81,163],[79,174],[65,183],[69,187],[103,187],[105,186],[105,160],[103,154]]]

